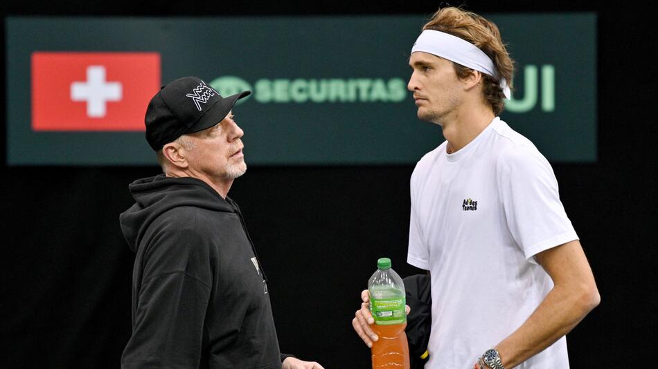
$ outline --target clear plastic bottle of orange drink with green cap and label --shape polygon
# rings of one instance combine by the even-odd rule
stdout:
[[[377,260],[377,271],[368,281],[370,312],[375,319],[373,330],[379,336],[371,348],[373,369],[409,369],[409,344],[404,328],[407,314],[404,305],[404,282],[391,269],[391,259]]]

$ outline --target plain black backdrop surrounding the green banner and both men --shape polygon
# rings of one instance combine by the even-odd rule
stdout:
[[[626,4],[632,8],[603,7],[598,1],[465,2],[481,13],[598,13],[599,159],[596,164],[553,163],[562,202],[602,297],[567,337],[572,368],[637,368],[655,362],[655,22],[648,9]],[[438,5],[28,0],[3,1],[0,15],[429,16]],[[0,32],[4,43],[4,24]],[[0,50],[5,70],[4,44]],[[5,79],[2,75],[3,103]],[[0,132],[5,132],[3,109],[0,117]],[[427,123],[409,117],[400,124]],[[6,162],[3,141],[1,163]],[[284,352],[328,369],[368,368],[368,349],[350,321],[377,257],[390,256],[403,276],[418,272],[405,263],[412,170],[411,165],[249,167],[236,180],[230,195],[242,207],[271,279]],[[128,183],[157,172],[157,167],[1,164],[1,368],[118,368],[130,337],[134,259],[118,214],[132,204]]]

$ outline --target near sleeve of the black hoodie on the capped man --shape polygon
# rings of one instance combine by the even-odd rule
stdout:
[[[198,368],[212,285],[208,241],[194,227],[161,227],[150,240],[121,367]]]

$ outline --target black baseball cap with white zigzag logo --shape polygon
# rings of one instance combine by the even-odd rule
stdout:
[[[160,88],[146,108],[146,140],[158,151],[181,135],[210,128],[229,115],[235,102],[250,93],[242,91],[222,97],[197,77],[169,82]]]

